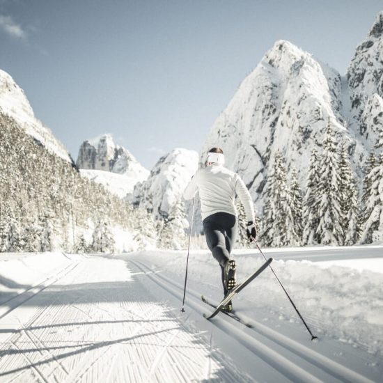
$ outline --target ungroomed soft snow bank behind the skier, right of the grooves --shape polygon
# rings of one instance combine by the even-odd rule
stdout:
[[[365,247],[360,251],[366,255],[369,249]],[[185,278],[186,251],[143,251],[136,255],[174,280]],[[235,254],[235,259],[239,280],[264,261],[246,252]],[[337,262],[344,264],[336,265]],[[382,270],[382,258],[357,261],[361,262],[365,265],[373,262],[375,267],[379,264]],[[274,260],[272,267],[314,334],[383,355],[382,273],[368,269],[359,271],[351,260],[348,264],[345,260],[331,263]],[[216,300],[222,298],[219,266],[208,251],[190,253],[187,283],[188,288]],[[283,322],[300,325],[297,313],[269,269],[237,295],[234,304],[249,318],[264,322],[277,318],[278,326],[283,326]]]

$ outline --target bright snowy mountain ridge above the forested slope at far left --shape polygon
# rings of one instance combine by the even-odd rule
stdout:
[[[0,70],[0,111],[12,117],[27,134],[33,136],[50,152],[70,163],[73,162],[65,146],[35,117],[22,88],[3,70]]]

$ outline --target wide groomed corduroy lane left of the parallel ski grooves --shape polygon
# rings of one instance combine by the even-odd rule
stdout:
[[[99,262],[80,260],[31,302],[36,311],[0,344],[0,382],[190,382],[207,371],[249,382],[141,281],[109,286],[109,260]]]

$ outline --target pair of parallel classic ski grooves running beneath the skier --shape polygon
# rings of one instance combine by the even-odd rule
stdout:
[[[140,261],[135,260],[131,263],[144,272],[157,286],[182,302],[184,286]],[[187,306],[201,315],[211,310],[201,301],[201,292],[189,288]],[[256,320],[246,316],[243,318],[253,325],[252,329],[238,324],[227,315],[220,315],[211,323],[212,326],[224,331],[227,336],[234,338],[237,343],[244,345],[256,359],[260,358],[265,361],[269,373],[272,370],[278,370],[283,377],[292,382],[373,382],[354,370],[315,352],[315,346],[307,347]],[[302,331],[305,331],[303,326]],[[310,372],[308,373],[308,371]]]

